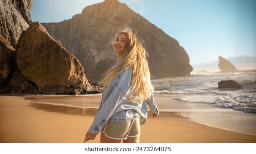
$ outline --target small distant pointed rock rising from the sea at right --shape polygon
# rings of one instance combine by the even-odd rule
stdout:
[[[219,63],[218,63],[218,68],[221,70],[223,73],[227,72],[239,72],[239,70],[227,59],[219,56],[218,57]]]

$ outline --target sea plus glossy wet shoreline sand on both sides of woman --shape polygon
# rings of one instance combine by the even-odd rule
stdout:
[[[235,80],[243,87],[218,89],[221,80]],[[151,82],[160,112],[175,112],[211,127],[256,135],[256,72],[194,74]],[[76,108],[97,108],[100,101],[100,97],[93,95],[33,96],[29,99],[32,103]]]

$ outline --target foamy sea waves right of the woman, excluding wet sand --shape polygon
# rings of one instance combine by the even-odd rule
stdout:
[[[221,80],[235,80],[242,89],[218,89]],[[256,73],[197,74],[153,80],[154,94],[175,95],[182,102],[207,103],[213,107],[256,113]]]

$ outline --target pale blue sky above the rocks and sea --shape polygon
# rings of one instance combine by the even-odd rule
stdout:
[[[40,23],[72,18],[103,0],[32,0]],[[256,0],[119,0],[185,48],[190,64],[256,57]],[[255,59],[255,58],[254,58]],[[256,60],[255,60],[256,61]]]

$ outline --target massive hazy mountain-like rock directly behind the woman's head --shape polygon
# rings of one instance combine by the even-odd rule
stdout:
[[[144,40],[155,79],[186,76],[192,71],[189,56],[179,42],[117,0],[90,5],[69,20],[43,25],[75,54],[90,80],[100,80],[101,74],[116,62],[112,41],[125,26],[132,27]]]

